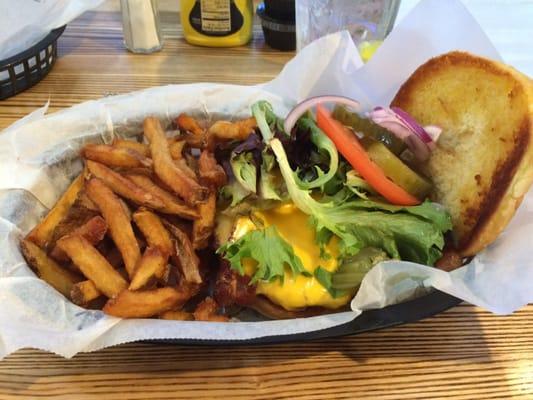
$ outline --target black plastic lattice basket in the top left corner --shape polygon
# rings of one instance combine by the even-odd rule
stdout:
[[[64,30],[65,26],[54,29],[28,50],[0,61],[0,100],[32,87],[50,72],[57,58],[57,39]]]

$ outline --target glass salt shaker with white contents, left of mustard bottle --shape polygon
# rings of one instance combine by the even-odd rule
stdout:
[[[120,0],[124,44],[133,53],[161,50],[157,0]]]

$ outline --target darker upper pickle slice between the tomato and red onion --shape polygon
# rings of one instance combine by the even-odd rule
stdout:
[[[357,113],[348,111],[346,107],[336,106],[333,109],[332,116],[343,125],[349,126],[354,131],[361,133],[364,137],[383,143],[396,155],[401,154],[406,148],[403,140],[397,138],[392,132],[375,124],[368,118],[363,118]]]

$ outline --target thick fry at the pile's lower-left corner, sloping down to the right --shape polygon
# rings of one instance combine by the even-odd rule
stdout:
[[[79,277],[61,268],[35,243],[25,239],[20,243],[20,247],[24,258],[35,273],[63,296],[69,297],[72,286],[80,280]]]

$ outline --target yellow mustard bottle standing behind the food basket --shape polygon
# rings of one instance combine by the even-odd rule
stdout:
[[[232,47],[252,38],[253,0],[180,0],[185,40],[209,47]]]

